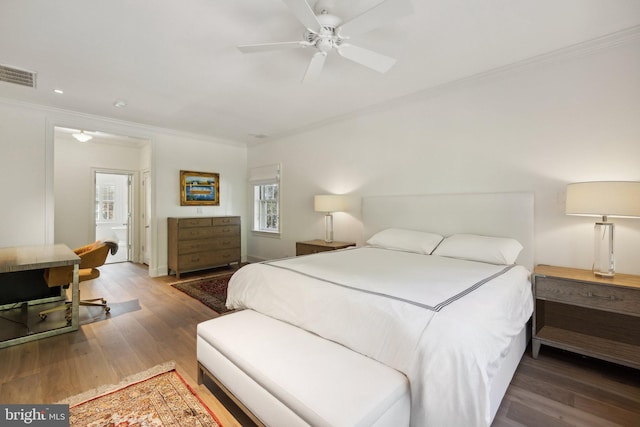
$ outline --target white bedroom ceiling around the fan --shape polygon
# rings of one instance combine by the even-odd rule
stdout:
[[[343,20],[379,2],[335,1]],[[38,75],[0,97],[252,143],[640,25],[638,0],[412,3],[352,40],[397,58],[389,72],[332,52],[303,85],[310,49],[236,49],[301,39],[282,0],[2,0],[0,64]]]

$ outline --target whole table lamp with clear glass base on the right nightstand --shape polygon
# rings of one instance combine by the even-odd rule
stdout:
[[[640,182],[600,181],[567,185],[567,215],[599,216],[594,227],[593,273],[613,277],[614,224],[608,217],[640,217]]]

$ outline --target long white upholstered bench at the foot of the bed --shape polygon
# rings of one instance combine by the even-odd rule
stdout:
[[[212,377],[267,426],[409,425],[403,374],[251,310],[200,323],[197,355],[198,382]]]

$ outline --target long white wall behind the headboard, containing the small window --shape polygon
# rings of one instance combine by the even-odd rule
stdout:
[[[348,193],[335,239],[362,243],[367,195],[535,193],[537,263],[590,268],[595,218],[564,214],[567,183],[640,181],[640,40],[513,67],[250,148],[282,163],[280,240],[249,237],[256,258],[321,238],[313,195]],[[382,81],[383,79],[381,79]],[[363,91],[368,90],[362,88]],[[640,274],[640,220],[616,222],[619,272]]]

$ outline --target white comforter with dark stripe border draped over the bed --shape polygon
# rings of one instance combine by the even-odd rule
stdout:
[[[488,426],[489,385],[533,311],[529,272],[378,248],[249,264],[227,307],[250,308],[407,375],[413,426]]]

